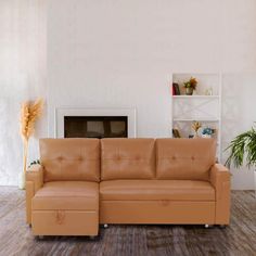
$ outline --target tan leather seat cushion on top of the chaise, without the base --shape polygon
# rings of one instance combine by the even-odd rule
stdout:
[[[37,191],[33,210],[98,210],[99,183],[88,181],[52,181]]]

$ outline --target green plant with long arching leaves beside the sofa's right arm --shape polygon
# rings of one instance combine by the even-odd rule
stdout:
[[[230,155],[226,162],[228,167],[233,164],[234,167],[239,168],[246,163],[248,168],[256,167],[256,129],[254,127],[251,130],[245,131],[236,136],[230,145],[226,149],[230,150]],[[255,192],[256,192],[256,170],[254,170],[255,178]]]

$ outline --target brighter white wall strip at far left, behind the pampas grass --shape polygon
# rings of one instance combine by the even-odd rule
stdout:
[[[0,185],[15,185],[22,170],[22,101],[47,95],[46,37],[44,0],[0,0]],[[30,158],[36,144],[31,140]]]

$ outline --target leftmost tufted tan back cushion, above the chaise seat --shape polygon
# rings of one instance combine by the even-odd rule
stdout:
[[[98,139],[41,139],[44,181],[100,181]]]

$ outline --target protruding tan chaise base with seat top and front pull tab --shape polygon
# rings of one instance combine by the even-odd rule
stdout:
[[[47,182],[34,196],[31,208],[35,235],[97,235],[99,183]]]

